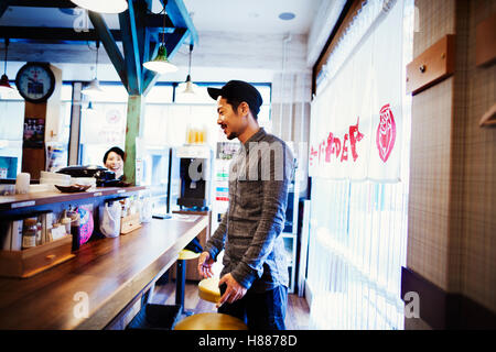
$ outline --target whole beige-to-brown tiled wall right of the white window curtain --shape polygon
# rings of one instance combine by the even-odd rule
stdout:
[[[476,24],[492,0],[416,0],[414,56],[456,34],[456,72],[413,97],[407,266],[496,311],[496,64],[475,66]]]

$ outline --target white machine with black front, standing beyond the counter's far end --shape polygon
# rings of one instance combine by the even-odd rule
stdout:
[[[181,191],[177,205],[206,210],[211,207],[213,152],[207,145],[183,145],[177,148]]]

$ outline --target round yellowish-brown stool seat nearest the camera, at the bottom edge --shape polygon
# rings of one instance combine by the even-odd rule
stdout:
[[[202,312],[177,322],[174,330],[248,330],[242,320],[219,312]]]

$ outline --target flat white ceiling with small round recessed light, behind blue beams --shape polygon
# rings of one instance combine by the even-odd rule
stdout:
[[[266,34],[308,34],[322,1],[330,0],[183,0],[198,32]],[[161,8],[161,2],[153,0],[152,11],[159,13]],[[279,19],[282,12],[295,18],[283,21]],[[104,18],[110,29],[119,28],[117,14]],[[77,10],[10,7],[0,25],[72,28],[76,21],[80,21]]]

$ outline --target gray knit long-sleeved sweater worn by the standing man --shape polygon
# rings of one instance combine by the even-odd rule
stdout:
[[[244,287],[266,292],[288,286],[284,229],[294,158],[283,141],[263,129],[241,144],[229,166],[229,208],[205,251],[225,249],[220,277],[231,273]]]

